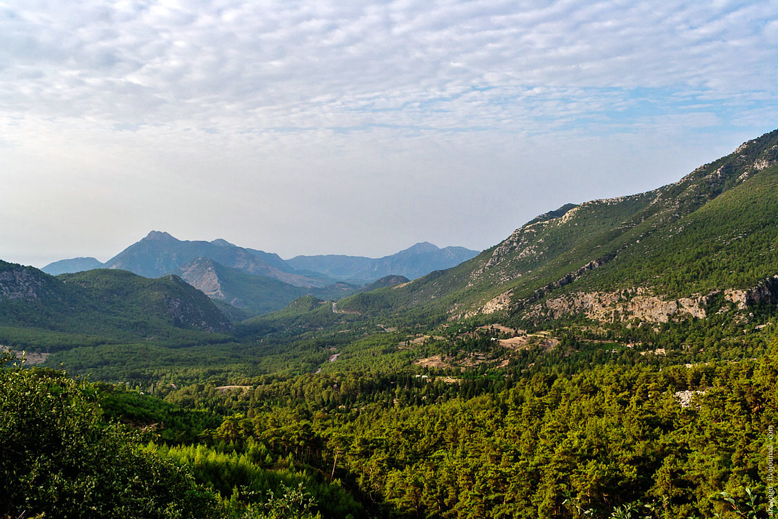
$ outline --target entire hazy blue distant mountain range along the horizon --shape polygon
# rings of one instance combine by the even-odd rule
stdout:
[[[340,299],[391,275],[415,279],[475,254],[464,247],[439,249],[422,243],[377,259],[331,255],[284,261],[278,254],[238,247],[226,240],[177,240],[169,233],[152,230],[105,263],[95,258],[72,258],[55,261],[42,270],[61,275],[107,268],[146,278],[176,274],[213,299],[242,310],[246,317],[279,310],[300,296]]]

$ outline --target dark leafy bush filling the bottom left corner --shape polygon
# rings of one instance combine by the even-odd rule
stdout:
[[[0,517],[218,517],[190,472],[102,422],[89,384],[0,369],[0,416]]]

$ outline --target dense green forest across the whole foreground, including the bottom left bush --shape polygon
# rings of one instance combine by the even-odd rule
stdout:
[[[121,365],[100,372],[133,385],[9,360],[2,513],[767,517],[772,335],[734,347],[726,328],[670,325],[648,335],[682,346],[641,356],[613,339],[626,329],[575,328],[557,331],[555,351],[527,349],[502,368],[410,361],[454,350],[489,358],[494,328],[399,354],[396,335],[373,335],[321,373],[286,361],[237,378],[162,362],[146,380]],[[299,348],[301,366],[315,365],[322,345]]]

